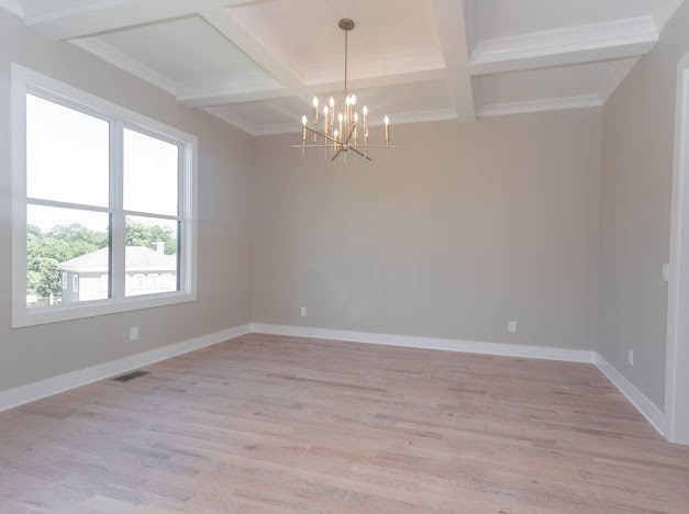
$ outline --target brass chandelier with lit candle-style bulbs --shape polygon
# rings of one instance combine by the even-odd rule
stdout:
[[[349,94],[347,89],[347,43],[349,31],[355,23],[348,18],[343,18],[337,22],[337,26],[345,33],[345,68],[344,68],[344,108],[335,115],[335,99],[330,98],[327,103],[323,102],[322,116],[320,116],[319,105],[322,103],[318,97],[313,97],[313,114],[311,123],[304,114],[301,118],[301,145],[292,145],[292,148],[301,148],[302,155],[307,148],[324,148],[325,155],[335,160],[343,156],[346,161],[349,152],[373,159],[368,156],[369,148],[398,148],[390,145],[390,119],[384,118],[385,144],[370,144],[368,141],[368,108],[364,105],[362,114],[357,111],[356,94]],[[308,133],[313,134],[313,143],[307,143]]]

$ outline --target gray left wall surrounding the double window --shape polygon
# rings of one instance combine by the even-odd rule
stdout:
[[[10,62],[199,137],[199,301],[10,328]],[[253,138],[0,10],[0,391],[247,323]],[[129,342],[129,327],[140,340]]]

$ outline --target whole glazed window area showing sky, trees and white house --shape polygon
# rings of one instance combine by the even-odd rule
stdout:
[[[26,306],[178,291],[180,157],[179,144],[29,92]]]

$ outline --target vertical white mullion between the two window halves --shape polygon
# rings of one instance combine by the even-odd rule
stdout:
[[[112,298],[124,298],[124,172],[122,148],[123,124],[110,125],[110,288]]]

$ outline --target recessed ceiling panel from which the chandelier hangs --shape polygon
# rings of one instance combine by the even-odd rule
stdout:
[[[308,80],[313,68],[342,68],[341,18],[356,23],[349,33],[349,62],[369,63],[387,54],[438,48],[430,0],[275,0],[232,7],[229,13]],[[355,75],[354,75],[355,76]]]

